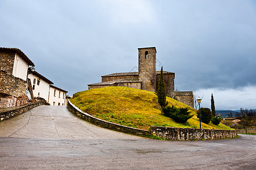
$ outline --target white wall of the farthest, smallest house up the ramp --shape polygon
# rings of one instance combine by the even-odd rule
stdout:
[[[55,92],[55,96],[54,96],[54,90]],[[59,97],[60,94],[60,97]],[[64,97],[63,97],[64,94]],[[57,90],[56,88],[50,87],[49,90],[49,101],[48,103],[51,105],[58,105],[58,103],[60,103],[60,105],[66,105],[66,92]]]

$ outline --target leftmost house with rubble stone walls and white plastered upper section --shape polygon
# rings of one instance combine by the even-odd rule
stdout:
[[[27,70],[34,63],[17,48],[0,48],[0,107],[28,104]]]

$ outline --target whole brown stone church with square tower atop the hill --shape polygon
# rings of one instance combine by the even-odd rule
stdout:
[[[102,75],[101,83],[88,84],[88,88],[102,88],[110,86],[125,86],[155,92],[160,79],[160,71],[156,71],[156,47],[138,48],[139,72],[114,73]],[[193,107],[192,91],[174,91],[175,73],[163,71],[166,94],[178,101]]]

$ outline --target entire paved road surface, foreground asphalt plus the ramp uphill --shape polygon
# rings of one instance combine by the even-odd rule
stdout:
[[[36,114],[43,109],[49,112]],[[158,141],[112,135],[115,132],[99,128],[97,134],[107,134],[101,137],[94,131],[98,127],[56,110],[37,107],[27,116],[15,117],[12,125],[11,119],[0,122],[0,132],[5,134],[0,137],[0,169],[256,169],[255,135],[218,141]],[[61,110],[66,112],[65,107]],[[45,120],[47,125],[43,125]],[[70,122],[77,126],[63,127]],[[36,127],[32,134],[27,131],[30,126]],[[72,132],[80,128],[86,133]],[[62,132],[68,129],[71,132]]]

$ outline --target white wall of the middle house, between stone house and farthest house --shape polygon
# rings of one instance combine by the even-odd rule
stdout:
[[[31,86],[35,85],[35,90],[33,90],[33,96],[38,97],[38,93],[40,93],[40,97],[44,98],[46,101],[48,100],[49,95],[49,86],[50,84],[45,82],[45,80],[40,79],[39,85],[37,85],[37,79],[39,78],[36,75],[33,75],[32,73],[28,75],[28,78],[31,80]],[[33,80],[36,79],[35,84],[33,83]]]

